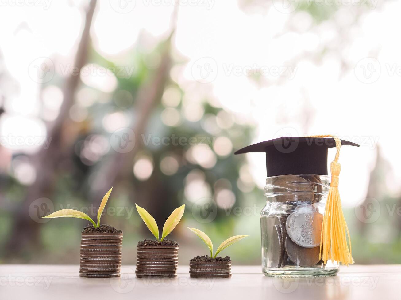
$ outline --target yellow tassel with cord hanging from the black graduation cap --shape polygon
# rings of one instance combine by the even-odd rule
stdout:
[[[338,176],[341,166],[338,163],[341,140],[332,135],[308,136],[309,138],[333,138],[336,141],[336,157],[330,164],[331,182],[328,191],[326,209],[323,216],[322,235],[320,236],[319,257],[326,263],[328,260],[336,261],[348,266],[353,264],[351,239],[348,226],[345,222],[341,207],[340,193],[338,192]],[[348,244],[347,244],[348,236]]]

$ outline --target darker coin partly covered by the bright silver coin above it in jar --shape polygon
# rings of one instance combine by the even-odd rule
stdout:
[[[294,262],[294,264],[296,264],[296,266],[311,267],[320,262],[320,247],[301,247],[295,244],[289,236],[286,238],[285,247],[288,257],[292,262]]]

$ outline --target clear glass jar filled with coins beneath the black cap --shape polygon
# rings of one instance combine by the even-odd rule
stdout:
[[[332,276],[338,264],[319,259],[320,233],[330,182],[322,175],[266,179],[260,214],[262,272],[266,276]]]

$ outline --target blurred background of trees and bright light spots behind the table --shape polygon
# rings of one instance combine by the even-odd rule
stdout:
[[[233,152],[279,135],[332,133],[361,144],[340,159],[354,260],[400,263],[401,196],[390,184],[399,161],[389,150],[397,126],[382,115],[394,99],[367,104],[389,88],[386,74],[369,86],[354,72],[380,52],[369,22],[386,20],[396,4],[169,3],[2,8],[0,262],[77,264],[87,222],[40,216],[75,208],[95,218],[113,186],[101,223],[123,230],[124,263],[151,237],[137,203],[159,228],[186,204],[169,236],[180,264],[207,254],[186,226],[216,247],[249,235],[221,254],[259,264],[265,158]],[[272,67],[297,71],[292,78]]]

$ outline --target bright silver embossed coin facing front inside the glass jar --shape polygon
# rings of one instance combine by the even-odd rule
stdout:
[[[323,215],[310,204],[302,204],[287,218],[287,234],[294,243],[305,248],[320,245]]]

